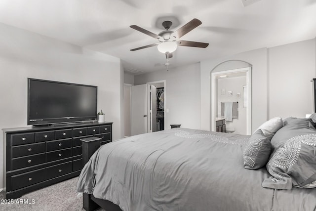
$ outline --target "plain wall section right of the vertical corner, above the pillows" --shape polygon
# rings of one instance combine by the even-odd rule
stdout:
[[[269,58],[269,117],[311,114],[315,40],[272,47]]]

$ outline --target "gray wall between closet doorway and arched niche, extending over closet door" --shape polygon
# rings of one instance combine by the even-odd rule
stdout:
[[[200,128],[200,66],[199,63],[137,75],[134,84],[166,80],[165,129],[170,124],[181,124],[181,127]]]

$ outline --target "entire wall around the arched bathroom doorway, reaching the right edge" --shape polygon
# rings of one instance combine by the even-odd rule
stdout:
[[[252,65],[252,131],[275,116],[313,113],[310,81],[316,73],[315,50],[313,39],[201,61],[201,129],[210,129],[210,72],[228,60]],[[241,67],[239,63],[227,68]]]

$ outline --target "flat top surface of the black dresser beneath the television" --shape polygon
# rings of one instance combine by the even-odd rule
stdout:
[[[55,125],[46,125],[46,126],[28,126],[28,127],[12,127],[12,128],[3,128],[3,132],[6,133],[15,133],[15,132],[24,132],[24,131],[42,131],[42,130],[58,130],[58,129],[69,129],[69,128],[79,128],[79,127],[92,127],[92,126],[103,126],[103,125],[112,125],[112,122],[83,122],[75,124],[55,124]]]

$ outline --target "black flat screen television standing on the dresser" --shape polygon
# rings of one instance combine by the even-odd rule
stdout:
[[[28,125],[97,120],[98,87],[28,78]]]

